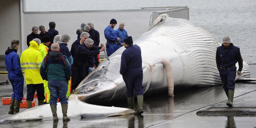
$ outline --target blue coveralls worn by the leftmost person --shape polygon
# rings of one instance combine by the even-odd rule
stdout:
[[[24,77],[20,67],[19,56],[16,52],[17,50],[8,47],[5,51],[4,59],[8,71],[8,79],[12,85],[13,93],[11,98],[21,101],[23,97]]]

